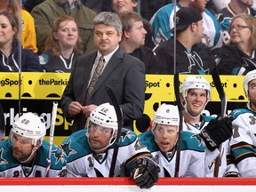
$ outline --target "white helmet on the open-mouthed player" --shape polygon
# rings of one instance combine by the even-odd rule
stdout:
[[[156,128],[156,124],[179,126],[180,116],[177,106],[164,103],[157,108],[152,125],[153,130]]]

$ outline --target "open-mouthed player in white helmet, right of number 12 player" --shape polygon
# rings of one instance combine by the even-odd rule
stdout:
[[[162,104],[155,113],[152,129],[139,135],[156,158],[159,177],[174,177],[179,132],[179,111],[176,106]],[[179,177],[204,177],[204,145],[192,132],[182,132]]]

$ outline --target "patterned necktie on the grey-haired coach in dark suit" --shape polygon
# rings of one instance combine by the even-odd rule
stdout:
[[[91,83],[89,84],[89,86],[87,88],[87,92],[86,92],[86,95],[85,95],[85,100],[88,100],[91,97],[94,86],[97,83],[98,78],[100,77],[101,71],[104,67],[104,63],[105,63],[104,57],[101,56],[100,60],[97,64],[97,67],[95,68],[94,73],[92,75]]]

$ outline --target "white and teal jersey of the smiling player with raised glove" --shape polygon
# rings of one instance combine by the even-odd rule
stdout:
[[[194,132],[196,134],[200,133],[204,127],[209,124],[213,119],[212,116],[201,116],[201,122],[197,124],[188,124],[183,122],[183,131]],[[203,140],[204,142],[204,140]],[[219,149],[210,151],[205,147],[205,177],[213,177],[215,159],[217,156],[221,156],[220,159],[220,168],[219,168],[219,177],[222,177],[227,169],[227,150],[228,150],[228,140],[222,143],[221,152]]]

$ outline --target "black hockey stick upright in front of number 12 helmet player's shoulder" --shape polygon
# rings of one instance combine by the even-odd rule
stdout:
[[[116,117],[117,117],[117,134],[116,134],[116,140],[115,140],[115,147],[113,151],[112,161],[108,173],[108,177],[113,177],[115,173],[115,166],[116,166],[116,157],[119,149],[119,140],[121,137],[121,132],[123,128],[123,115],[121,108],[119,107],[118,101],[116,100],[115,93],[111,90],[109,86],[106,86],[106,91],[108,93],[108,97],[110,98],[115,110],[116,110]]]

